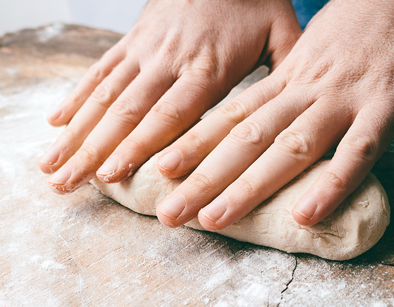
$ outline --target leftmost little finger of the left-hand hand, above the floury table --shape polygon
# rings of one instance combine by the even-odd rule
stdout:
[[[113,71],[124,57],[125,48],[120,41],[90,67],[73,93],[48,115],[48,122],[53,126],[62,126],[69,123],[97,85]]]

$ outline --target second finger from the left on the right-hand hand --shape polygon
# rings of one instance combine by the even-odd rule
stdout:
[[[233,128],[169,198],[159,204],[159,220],[170,227],[188,222],[236,180],[301,112],[302,101],[289,103],[291,95],[291,91],[282,92]]]

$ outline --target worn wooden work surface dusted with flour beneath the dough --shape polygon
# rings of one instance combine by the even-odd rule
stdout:
[[[0,301],[14,306],[392,306],[394,227],[348,261],[169,229],[91,185],[65,196],[37,161],[46,115],[121,36],[53,25],[0,38]],[[232,92],[241,91],[245,81]],[[394,201],[394,154],[373,172]]]

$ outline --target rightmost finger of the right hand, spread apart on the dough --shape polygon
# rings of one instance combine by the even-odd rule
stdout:
[[[329,165],[294,206],[294,220],[310,226],[332,213],[361,184],[388,147],[393,127],[393,120],[382,123],[381,116],[369,112],[357,116]]]

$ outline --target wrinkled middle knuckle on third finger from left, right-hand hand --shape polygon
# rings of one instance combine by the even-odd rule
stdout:
[[[293,156],[311,157],[313,146],[308,136],[297,130],[283,130],[274,141],[274,144],[284,148]]]

